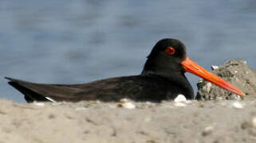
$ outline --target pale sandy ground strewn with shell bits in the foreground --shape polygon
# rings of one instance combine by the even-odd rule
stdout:
[[[21,104],[0,101],[0,142],[252,142],[252,100]]]

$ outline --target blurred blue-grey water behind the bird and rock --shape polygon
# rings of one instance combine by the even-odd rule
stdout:
[[[256,68],[256,1],[1,0],[0,97],[25,102],[4,76],[87,83],[140,74],[156,41],[176,38],[212,64]],[[195,92],[195,75],[187,74]]]

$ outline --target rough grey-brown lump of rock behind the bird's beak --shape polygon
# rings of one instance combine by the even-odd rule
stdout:
[[[256,74],[250,68],[246,61],[229,60],[222,66],[212,66],[213,73],[225,79],[242,90],[247,96],[246,98],[256,98]],[[206,80],[201,80],[197,83],[198,93],[196,99],[199,100],[225,100],[239,99],[237,95],[230,94],[220,87],[215,86]]]

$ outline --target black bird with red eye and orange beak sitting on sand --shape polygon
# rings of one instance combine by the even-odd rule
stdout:
[[[185,45],[175,39],[158,41],[140,75],[102,79],[85,84],[42,84],[19,79],[9,79],[9,84],[25,95],[27,102],[78,102],[81,100],[118,101],[128,98],[136,101],[160,102],[184,95],[194,98],[194,91],[185,72],[199,75],[203,79],[223,87],[236,95],[245,96],[238,88],[207,72],[187,57]]]

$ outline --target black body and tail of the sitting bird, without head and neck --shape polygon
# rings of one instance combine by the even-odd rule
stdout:
[[[7,79],[10,79],[10,85],[22,91],[27,102],[47,101],[48,99],[45,97],[56,102],[119,101],[124,98],[135,101],[160,102],[161,100],[174,99],[179,94],[186,95],[187,99],[194,96],[191,87],[183,87],[183,84],[176,84],[156,75],[123,76],[102,79],[92,83],[67,85],[30,83],[18,79]]]

